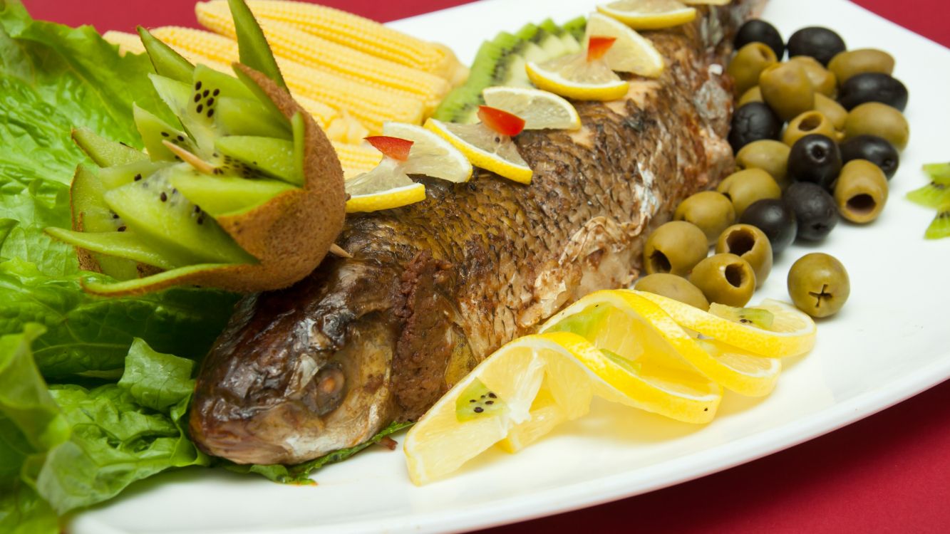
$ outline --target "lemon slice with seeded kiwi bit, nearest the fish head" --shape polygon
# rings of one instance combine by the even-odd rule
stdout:
[[[592,396],[587,371],[559,341],[512,341],[442,396],[403,443],[412,482],[425,484],[457,470],[514,428],[520,430],[509,447],[519,448],[553,424],[586,414]],[[539,424],[542,416],[548,421]]]

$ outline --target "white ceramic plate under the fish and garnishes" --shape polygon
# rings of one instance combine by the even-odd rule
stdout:
[[[392,26],[450,44],[467,63],[481,41],[500,30],[547,16],[566,21],[594,5],[487,0]],[[382,448],[318,471],[316,487],[280,486],[223,470],[167,473],[79,514],[71,532],[342,534],[499,525],[724,470],[833,431],[950,377],[950,239],[924,241],[934,211],[903,198],[925,183],[922,163],[950,159],[950,50],[843,0],[774,0],[765,18],[785,36],[820,24],[837,29],[851,48],[890,51],[898,60],[895,75],[910,88],[912,132],[882,217],[864,228],[840,224],[820,247],[809,248],[844,262],[850,301],[819,324],[811,354],[786,361],[771,396],[727,394],[719,416],[705,427],[595,403],[590,415],[526,451],[489,451],[424,488],[409,483],[401,451]],[[756,298],[787,300],[788,267],[809,249],[788,249]]]

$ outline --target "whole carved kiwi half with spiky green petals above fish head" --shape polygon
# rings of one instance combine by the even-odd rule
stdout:
[[[286,287],[319,265],[342,230],[346,193],[333,147],[287,92],[244,1],[229,4],[237,76],[192,65],[139,29],[151,82],[180,122],[135,106],[145,152],[73,132],[96,166],[73,177],[72,229],[47,233],[75,246],[81,267],[117,281],[88,282],[90,292]]]

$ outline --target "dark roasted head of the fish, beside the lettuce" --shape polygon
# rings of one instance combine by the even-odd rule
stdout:
[[[321,267],[246,298],[203,363],[189,428],[240,464],[294,464],[355,446],[393,417],[398,276],[358,262]]]

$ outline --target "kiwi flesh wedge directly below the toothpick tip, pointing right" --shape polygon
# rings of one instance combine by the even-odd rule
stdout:
[[[279,180],[202,175],[187,168],[176,169],[168,176],[168,181],[174,189],[212,217],[247,212],[280,193],[295,189]]]

